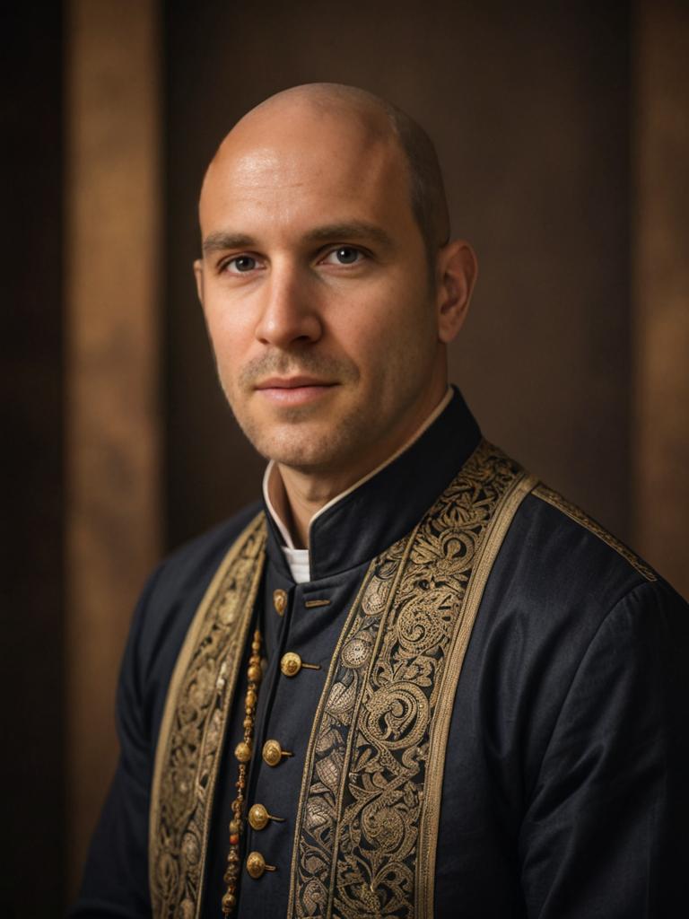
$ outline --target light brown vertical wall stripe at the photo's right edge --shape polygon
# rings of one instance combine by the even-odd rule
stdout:
[[[640,0],[636,548],[685,595],[689,516],[689,6]]]

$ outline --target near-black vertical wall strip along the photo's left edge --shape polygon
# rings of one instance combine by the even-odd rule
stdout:
[[[62,915],[62,9],[0,6],[0,916]]]

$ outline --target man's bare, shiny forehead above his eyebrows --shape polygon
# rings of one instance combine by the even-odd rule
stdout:
[[[308,230],[323,220],[400,228],[412,221],[406,161],[379,119],[315,108],[260,114],[240,122],[209,167],[200,200],[204,234],[225,223],[253,231],[251,224],[266,222]]]

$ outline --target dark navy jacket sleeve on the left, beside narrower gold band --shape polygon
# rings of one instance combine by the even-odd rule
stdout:
[[[154,750],[139,644],[158,573],[160,569],[141,596],[122,660],[117,697],[119,762],[91,842],[79,898],[68,913],[73,919],[151,916],[147,845]]]

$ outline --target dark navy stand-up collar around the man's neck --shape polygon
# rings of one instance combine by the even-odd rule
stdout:
[[[369,562],[405,536],[479,445],[480,429],[461,393],[400,456],[311,521],[311,581]],[[267,551],[291,580],[277,523],[265,507]]]

